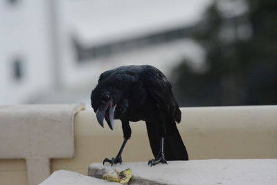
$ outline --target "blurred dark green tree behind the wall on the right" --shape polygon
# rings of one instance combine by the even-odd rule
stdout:
[[[224,2],[243,9],[239,7],[242,0],[220,0],[206,10],[193,33],[206,51],[206,69],[195,71],[184,59],[172,71],[179,104],[276,104],[277,1],[245,0],[245,11],[238,15],[235,10],[225,10]]]

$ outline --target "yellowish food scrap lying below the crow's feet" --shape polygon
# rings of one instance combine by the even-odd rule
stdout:
[[[123,170],[120,173],[118,172],[118,170],[113,169],[108,173],[105,173],[102,179],[108,180],[110,182],[128,184],[129,179],[131,179],[131,177],[132,177],[132,170],[127,168],[126,170]]]

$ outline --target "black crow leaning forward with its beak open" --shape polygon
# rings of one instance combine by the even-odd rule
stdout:
[[[131,136],[129,121],[146,123],[154,159],[153,166],[166,160],[188,160],[186,147],[177,130],[181,121],[179,105],[170,82],[159,69],[149,66],[123,66],[102,73],[91,93],[91,106],[98,122],[114,129],[114,119],[122,123],[124,141],[116,157],[104,159],[111,166],[122,162],[121,154]]]

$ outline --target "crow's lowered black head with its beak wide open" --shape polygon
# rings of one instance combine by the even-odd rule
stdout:
[[[91,107],[96,112],[98,123],[104,127],[104,118],[109,128],[114,129],[114,112],[120,100],[121,93],[116,88],[97,85],[91,92]]]

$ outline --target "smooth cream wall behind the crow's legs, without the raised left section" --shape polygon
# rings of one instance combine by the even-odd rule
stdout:
[[[190,159],[277,158],[277,106],[182,108],[178,125]],[[87,167],[114,157],[123,141],[121,124],[103,129],[92,110],[75,115],[75,157],[52,159],[51,170],[87,174]],[[145,123],[131,123],[123,162],[148,161],[152,152]],[[24,160],[0,160],[0,184],[27,184]]]

